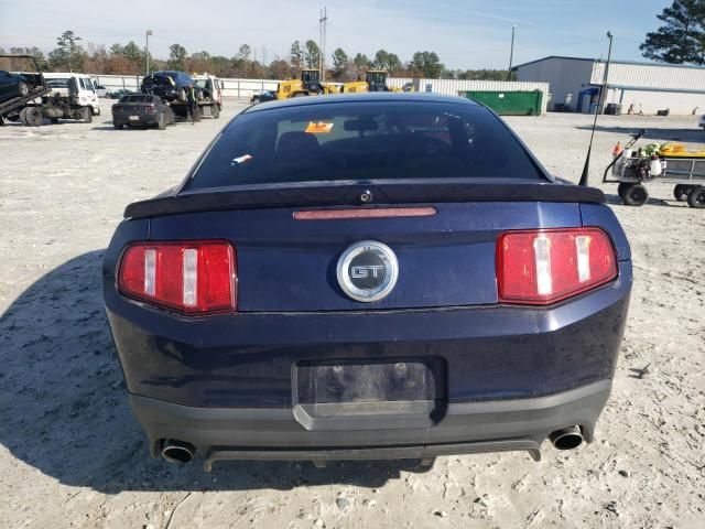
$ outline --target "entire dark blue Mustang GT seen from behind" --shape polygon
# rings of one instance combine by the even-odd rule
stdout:
[[[152,454],[325,462],[557,449],[609,396],[630,250],[469,100],[237,116],[128,206],[104,295]]]

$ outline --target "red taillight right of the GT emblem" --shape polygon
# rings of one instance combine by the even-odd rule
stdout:
[[[497,242],[499,301],[549,304],[617,277],[617,257],[599,228],[508,231]]]

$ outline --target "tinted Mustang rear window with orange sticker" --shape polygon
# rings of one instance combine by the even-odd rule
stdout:
[[[542,176],[484,107],[367,101],[245,112],[188,187],[437,177]]]

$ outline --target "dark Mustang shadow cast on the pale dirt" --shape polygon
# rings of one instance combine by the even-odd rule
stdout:
[[[153,460],[127,403],[100,293],[102,251],[72,259],[25,290],[0,317],[0,443],[63,484],[121,490],[380,487],[415,462]],[[213,477],[217,477],[214,482]]]

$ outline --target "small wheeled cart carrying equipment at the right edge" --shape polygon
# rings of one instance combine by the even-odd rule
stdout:
[[[625,145],[625,150],[607,166],[603,183],[618,184],[617,193],[628,206],[641,206],[649,198],[646,184],[673,183],[676,201],[690,207],[705,208],[705,156],[662,155],[644,158],[631,155],[630,148],[646,131],[641,130]],[[628,153],[627,155],[623,155]],[[611,174],[610,174],[611,170]]]

